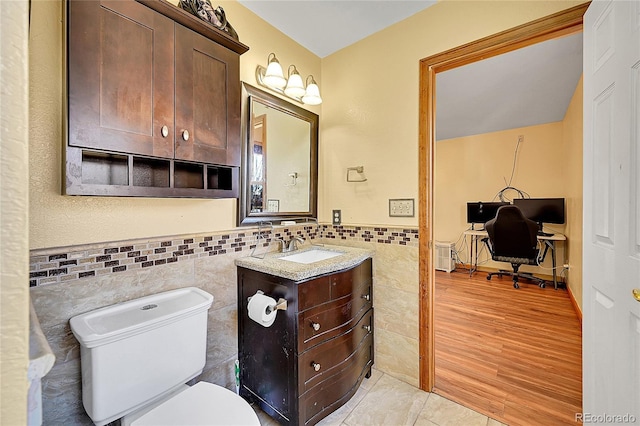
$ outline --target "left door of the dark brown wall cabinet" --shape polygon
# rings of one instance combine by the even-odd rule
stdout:
[[[80,0],[68,29],[69,145],[173,158],[173,21],[135,1]]]

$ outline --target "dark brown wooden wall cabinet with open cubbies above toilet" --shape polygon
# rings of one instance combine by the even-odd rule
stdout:
[[[68,8],[65,193],[237,197],[248,48],[164,0]]]

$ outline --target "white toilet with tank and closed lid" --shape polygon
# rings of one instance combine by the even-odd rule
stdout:
[[[207,382],[213,296],[182,288],[71,318],[80,342],[82,402],[96,425],[260,425],[249,403]]]

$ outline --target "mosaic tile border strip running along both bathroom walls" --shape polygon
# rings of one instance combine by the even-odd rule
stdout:
[[[220,256],[269,246],[292,235],[304,239],[339,239],[379,244],[418,245],[417,229],[369,226],[299,225],[242,229],[215,234],[158,237],[82,246],[31,250],[29,286],[37,287],[105,274],[166,265],[186,259]]]

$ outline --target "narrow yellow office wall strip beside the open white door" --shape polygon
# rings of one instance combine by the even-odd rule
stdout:
[[[582,79],[578,83],[562,129],[568,238],[567,283],[582,309]]]

